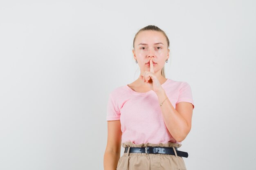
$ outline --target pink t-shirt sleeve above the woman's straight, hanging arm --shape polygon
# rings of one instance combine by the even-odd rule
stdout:
[[[120,119],[120,110],[117,105],[117,100],[110,93],[108,98],[107,106],[107,117],[106,120],[119,120]]]

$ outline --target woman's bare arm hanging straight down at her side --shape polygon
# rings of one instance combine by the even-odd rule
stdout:
[[[121,151],[120,120],[108,121],[108,141],[104,154],[104,170],[116,170]]]

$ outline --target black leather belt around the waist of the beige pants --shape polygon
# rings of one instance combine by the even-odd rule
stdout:
[[[178,150],[177,147],[174,147],[177,153],[177,156],[180,157],[188,157],[188,152],[182,152]],[[124,153],[127,153],[128,147],[125,148]],[[129,153],[155,153],[155,154],[168,154],[168,155],[175,155],[174,150],[172,147],[130,147]]]

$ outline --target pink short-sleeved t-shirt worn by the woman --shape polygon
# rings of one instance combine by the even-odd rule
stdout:
[[[187,82],[168,79],[162,84],[165,93],[175,108],[179,102],[194,103],[191,87]],[[157,95],[153,90],[146,93],[133,91],[128,85],[115,88],[109,95],[106,120],[119,120],[121,123],[122,143],[166,144],[177,142],[169,133]]]

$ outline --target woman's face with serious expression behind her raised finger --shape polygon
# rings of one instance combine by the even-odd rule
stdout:
[[[165,60],[169,58],[169,49],[166,37],[159,31],[141,31],[134,42],[133,57],[143,71],[150,70],[149,60],[152,58],[154,71],[160,71],[164,67]]]

